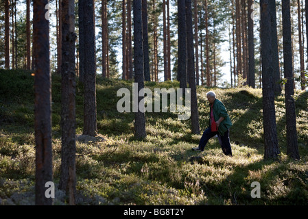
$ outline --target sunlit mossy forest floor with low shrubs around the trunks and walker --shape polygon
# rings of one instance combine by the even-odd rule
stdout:
[[[0,70],[0,205],[34,205],[34,77],[20,70]],[[177,82],[145,82],[145,87],[178,88]],[[203,152],[193,152],[200,135],[190,120],[175,113],[146,113],[145,140],[134,139],[134,113],[117,111],[119,88],[132,81],[97,78],[99,140],[76,142],[78,205],[307,205],[308,92],[296,90],[300,160],[286,155],[285,96],[277,96],[276,125],[281,156],[263,159],[262,90],[211,88],[233,122],[233,157],[222,153],[217,138]],[[206,92],[198,86],[201,133],[209,118]],[[83,106],[76,92],[76,134],[82,134]],[[67,205],[58,190],[61,163],[60,77],[52,77],[54,205]],[[252,198],[252,182],[260,198]]]

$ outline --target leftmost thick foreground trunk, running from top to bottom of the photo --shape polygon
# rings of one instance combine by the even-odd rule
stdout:
[[[34,127],[36,142],[35,203],[52,205],[45,196],[45,183],[52,181],[51,74],[49,68],[49,21],[45,18],[48,0],[34,0],[33,37],[35,51]]]

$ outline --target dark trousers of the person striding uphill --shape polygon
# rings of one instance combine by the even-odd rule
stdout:
[[[218,131],[211,131],[211,127],[205,129],[200,139],[199,149],[201,151],[204,151],[206,143],[209,142],[209,139],[213,138],[215,135],[218,136],[220,146],[222,146],[222,152],[224,152],[225,155],[232,156],[230,138],[229,138],[229,129],[224,133],[224,136],[220,136],[220,133]]]

